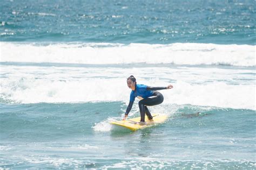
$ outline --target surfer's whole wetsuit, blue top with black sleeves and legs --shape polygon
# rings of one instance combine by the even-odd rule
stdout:
[[[144,91],[139,90],[139,88],[144,88]],[[166,89],[166,87],[149,87],[143,84],[137,84],[135,90],[132,90],[131,92],[130,102],[126,109],[125,115],[128,115],[131,111],[134,98],[138,97],[138,95],[142,95],[145,98],[139,101],[140,122],[145,122],[145,114],[147,115],[148,119],[152,119],[153,117],[146,106],[152,106],[162,103],[164,101],[164,96],[155,90],[163,89]]]

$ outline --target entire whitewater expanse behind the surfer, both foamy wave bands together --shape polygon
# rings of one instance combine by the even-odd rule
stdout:
[[[136,75],[149,86],[172,83],[171,93],[163,91],[165,103],[255,110],[252,45],[1,42],[1,47],[3,101],[127,102],[126,77]]]

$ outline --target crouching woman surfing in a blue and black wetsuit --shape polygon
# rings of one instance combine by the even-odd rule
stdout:
[[[139,111],[140,111],[140,122],[139,125],[145,125],[145,114],[150,121],[153,121],[153,117],[147,108],[147,106],[157,105],[164,101],[164,96],[156,90],[172,89],[173,86],[170,84],[167,87],[150,87],[144,84],[137,84],[136,79],[133,75],[127,78],[127,86],[132,89],[130,94],[130,102],[126,109],[125,120],[132,109],[135,97],[139,98]]]

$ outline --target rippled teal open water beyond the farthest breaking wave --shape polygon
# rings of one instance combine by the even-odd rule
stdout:
[[[2,41],[255,44],[255,1],[2,1]]]

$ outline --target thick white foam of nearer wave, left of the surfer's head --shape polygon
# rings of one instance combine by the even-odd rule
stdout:
[[[106,84],[110,82],[116,85],[108,87]],[[4,79],[1,82],[1,94],[6,100],[21,103],[121,101],[124,98],[122,91],[127,89],[122,88],[125,84],[122,86],[118,82],[118,79],[82,81],[18,79],[11,82]]]

